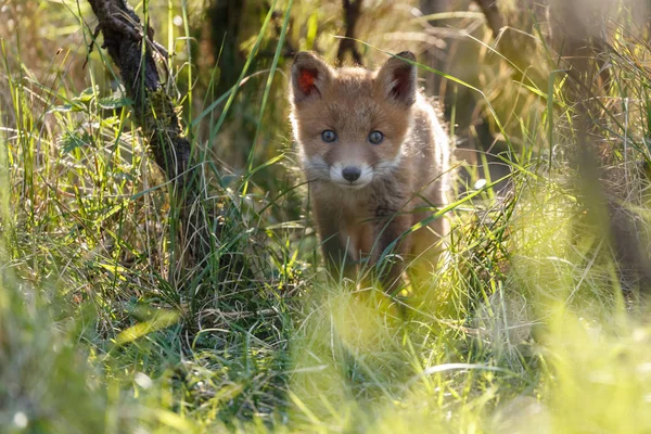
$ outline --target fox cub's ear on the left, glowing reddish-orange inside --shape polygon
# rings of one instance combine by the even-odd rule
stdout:
[[[294,103],[321,98],[330,81],[330,67],[316,54],[302,51],[292,66],[292,97]]]

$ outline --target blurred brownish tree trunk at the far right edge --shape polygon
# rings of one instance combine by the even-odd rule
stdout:
[[[551,46],[566,67],[571,86],[566,87],[565,95],[576,107],[573,118],[576,143],[571,163],[578,173],[577,191],[589,209],[596,237],[603,237],[614,252],[623,286],[649,291],[651,261],[647,240],[636,226],[639,218],[625,203],[633,195],[626,188],[614,189],[607,182],[604,166],[609,162],[600,159],[597,145],[602,138],[601,127],[596,123],[601,119],[602,108],[597,102],[608,93],[610,84],[610,72],[601,58],[608,50],[601,38],[605,17],[614,13],[609,8],[614,8],[614,3],[551,0]]]

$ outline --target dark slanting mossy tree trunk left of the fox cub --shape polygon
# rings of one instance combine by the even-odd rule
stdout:
[[[165,49],[153,40],[126,0],[88,0],[98,17],[95,35],[104,37],[103,48],[118,66],[127,94],[133,101],[132,113],[149,141],[156,164],[171,184],[171,209],[178,210],[180,230],[173,237],[180,241],[174,269],[196,266],[209,252],[209,226],[200,202],[203,191],[201,173],[191,159],[191,143],[183,137],[176,106],[165,93],[157,69],[158,60],[165,67]],[[142,50],[142,44],[144,51]],[[174,222],[175,219],[173,218]],[[177,270],[179,270],[177,268]],[[179,270],[179,271],[180,271]]]

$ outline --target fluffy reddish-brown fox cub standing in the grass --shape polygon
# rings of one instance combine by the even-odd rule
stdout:
[[[348,273],[391,246],[391,260],[376,267],[386,291],[412,259],[431,270],[448,232],[441,218],[400,238],[447,204],[450,144],[416,66],[398,58],[371,72],[301,52],[291,74],[291,120],[326,260]]]

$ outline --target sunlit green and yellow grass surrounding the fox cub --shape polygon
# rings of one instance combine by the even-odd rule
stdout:
[[[408,9],[387,3],[360,23],[369,62],[383,59],[373,47],[419,47],[382,38],[422,34]],[[148,4],[164,27],[156,38],[176,49],[170,89],[179,90],[208,186],[197,205],[222,216],[219,242],[199,275],[175,261],[169,184],[115,90],[115,66],[95,48],[81,69],[89,7],[8,7],[2,13],[14,24],[0,29],[3,432],[651,430],[647,301],[621,279],[602,210],[577,188],[567,156],[577,107],[566,76],[550,76],[559,65],[539,34],[524,29],[537,41],[531,76],[512,79],[513,64],[494,52],[483,27],[467,42],[480,59],[476,76],[457,77],[450,66],[456,90],[476,89],[500,133],[497,158],[509,166],[510,190],[498,194],[498,179],[467,165],[470,186],[487,183],[447,210],[449,263],[430,291],[394,299],[321,269],[291,144],[283,38],[332,59],[340,2],[279,0],[278,16],[247,10],[240,40],[247,58],[232,88],[219,81],[222,71],[188,63],[202,56],[199,2]],[[464,29],[477,20],[442,18]],[[613,85],[592,119],[596,149],[608,169],[603,184],[614,186],[609,192],[644,238],[651,47],[625,15],[610,38]],[[420,74],[435,72],[421,65]],[[472,127],[456,132],[476,136]]]

